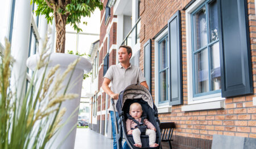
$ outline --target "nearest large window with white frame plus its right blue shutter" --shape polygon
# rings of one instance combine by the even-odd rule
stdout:
[[[222,97],[253,93],[247,13],[244,1],[197,0],[188,7],[185,16],[189,105],[181,110],[191,110],[191,104],[204,102],[215,102],[211,109],[220,108],[221,100],[225,100]],[[201,105],[192,109],[205,108]]]

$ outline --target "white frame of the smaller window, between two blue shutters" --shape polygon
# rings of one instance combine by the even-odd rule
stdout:
[[[168,27],[165,29],[165,30],[163,30],[162,32],[161,32],[161,34],[159,34],[156,38],[155,38],[155,105],[156,105],[156,107],[158,108],[158,113],[171,113],[171,105],[169,105],[169,103],[170,102],[166,102],[166,103],[163,103],[163,104],[159,104],[159,99],[158,99],[158,97],[159,97],[159,92],[158,92],[158,87],[159,87],[159,85],[158,85],[158,80],[159,80],[159,75],[158,75],[158,70],[159,70],[159,68],[158,68],[158,63],[159,63],[159,61],[158,61],[158,57],[159,57],[159,55],[158,55],[158,42],[161,40],[161,39],[163,39],[164,38],[164,36],[166,36],[168,34]],[[168,44],[168,40],[167,40],[167,49],[169,49],[168,48],[169,47],[169,44]],[[170,51],[168,51],[167,50],[167,55],[170,55]],[[168,59],[167,60],[167,64],[170,64],[170,59]],[[170,80],[170,75],[168,75],[168,80]],[[167,88],[167,90],[168,90],[168,96],[167,96],[167,98],[170,98],[170,92],[169,92],[169,90],[170,90],[170,82],[169,81],[167,81],[167,85],[168,85],[168,88]]]

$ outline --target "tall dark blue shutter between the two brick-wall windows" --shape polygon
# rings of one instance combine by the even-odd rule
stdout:
[[[168,44],[170,48],[170,105],[183,104],[182,53],[180,11],[168,20]]]

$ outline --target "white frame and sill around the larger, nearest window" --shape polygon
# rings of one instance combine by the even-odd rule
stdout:
[[[193,79],[192,79],[192,28],[191,28],[191,13],[197,9],[205,0],[197,0],[192,3],[191,6],[188,7],[188,9],[185,11],[185,18],[186,18],[186,33],[187,33],[187,82],[188,82],[188,105],[192,104],[200,104],[200,108],[192,108],[188,106],[183,106],[182,110],[183,111],[189,111],[188,109],[191,110],[204,110],[204,109],[209,109],[209,107],[203,107],[204,105],[201,105],[201,103],[206,103],[206,102],[216,102],[216,101],[222,101],[225,100],[225,98],[221,97],[221,93],[216,93],[216,94],[209,94],[207,96],[200,96],[200,97],[193,97]],[[219,104],[220,107],[219,107]],[[223,102],[218,102],[218,106],[213,106],[210,109],[217,109],[223,107]],[[195,105],[193,105],[195,106]]]

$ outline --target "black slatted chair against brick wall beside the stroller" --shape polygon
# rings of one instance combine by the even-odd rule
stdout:
[[[168,142],[170,149],[172,149],[172,133],[175,129],[174,122],[161,122],[160,123],[160,130],[161,130],[161,140],[162,142]],[[162,148],[162,145],[161,145]]]

